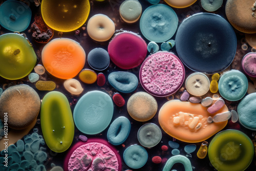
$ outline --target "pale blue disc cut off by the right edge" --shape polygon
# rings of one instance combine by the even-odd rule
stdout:
[[[249,130],[256,131],[256,93],[245,96],[238,104],[239,122]]]

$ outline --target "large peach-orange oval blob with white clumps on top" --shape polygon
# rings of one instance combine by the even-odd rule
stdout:
[[[227,112],[226,105],[217,113]],[[208,123],[210,114],[201,104],[170,100],[159,111],[158,120],[162,129],[170,136],[185,142],[200,142],[221,131],[227,124],[224,122]]]

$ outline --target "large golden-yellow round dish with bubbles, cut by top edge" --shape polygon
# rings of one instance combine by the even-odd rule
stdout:
[[[45,23],[54,30],[69,32],[81,27],[90,12],[88,0],[44,0],[41,14]]]

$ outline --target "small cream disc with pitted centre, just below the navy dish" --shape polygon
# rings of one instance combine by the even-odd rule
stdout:
[[[194,96],[206,94],[210,88],[209,78],[200,72],[190,74],[186,79],[186,90]]]

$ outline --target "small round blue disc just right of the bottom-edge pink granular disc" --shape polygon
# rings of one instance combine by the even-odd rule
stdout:
[[[144,166],[147,159],[147,151],[140,145],[131,145],[123,152],[124,163],[134,169]]]

